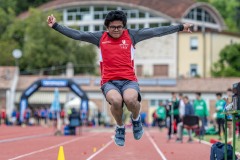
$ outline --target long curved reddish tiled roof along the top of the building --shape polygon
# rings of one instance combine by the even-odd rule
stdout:
[[[194,0],[53,0],[41,5],[43,10],[63,8],[74,5],[117,5],[142,8],[161,12],[172,18],[181,18],[184,12],[196,3]],[[27,12],[22,13],[20,18],[27,16]]]

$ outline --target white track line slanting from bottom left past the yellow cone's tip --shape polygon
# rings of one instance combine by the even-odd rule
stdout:
[[[96,134],[98,134],[98,133],[96,133]],[[40,150],[37,150],[37,151],[34,151],[34,152],[30,152],[30,153],[27,153],[27,154],[23,154],[23,155],[14,157],[14,158],[10,158],[10,159],[8,159],[8,160],[16,160],[16,159],[20,159],[20,158],[23,158],[23,157],[27,157],[27,156],[30,156],[30,155],[33,155],[33,154],[36,154],[36,153],[44,152],[44,151],[47,151],[47,150],[50,150],[50,149],[54,149],[54,148],[63,146],[63,145],[68,144],[68,143],[72,143],[72,142],[78,141],[78,140],[80,140],[80,139],[82,139],[82,138],[87,138],[87,137],[95,136],[96,134],[93,134],[93,135],[91,135],[91,136],[86,136],[86,137],[74,138],[74,139],[72,139],[72,140],[69,140],[69,141],[66,141],[66,142],[63,142],[63,143],[60,143],[60,144],[57,144],[57,145],[48,147],[48,148],[44,148],[44,149],[40,149]]]

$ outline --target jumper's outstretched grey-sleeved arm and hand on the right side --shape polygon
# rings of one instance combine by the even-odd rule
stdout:
[[[153,37],[161,37],[168,34],[172,34],[179,31],[185,31],[192,33],[191,28],[192,24],[180,24],[180,25],[171,25],[171,26],[163,26],[163,27],[155,27],[155,28],[143,28],[143,29],[129,29],[129,33],[131,38],[133,39],[134,45],[140,41],[150,39]]]

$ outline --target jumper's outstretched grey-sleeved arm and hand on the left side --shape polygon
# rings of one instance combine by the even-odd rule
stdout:
[[[100,38],[103,34],[102,31],[82,32],[79,30],[68,28],[66,26],[62,26],[56,22],[56,18],[53,15],[48,16],[47,23],[48,23],[49,27],[55,29],[56,31],[62,33],[63,35],[65,35],[69,38],[89,42],[96,46],[99,46]]]

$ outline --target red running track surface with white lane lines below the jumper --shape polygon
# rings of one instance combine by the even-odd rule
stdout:
[[[83,128],[81,135],[53,136],[46,127],[0,126],[0,160],[57,160],[63,146],[65,160],[208,160],[210,146],[197,141],[166,141],[166,132],[145,128],[136,141],[127,129],[124,147],[114,144],[114,128]]]

